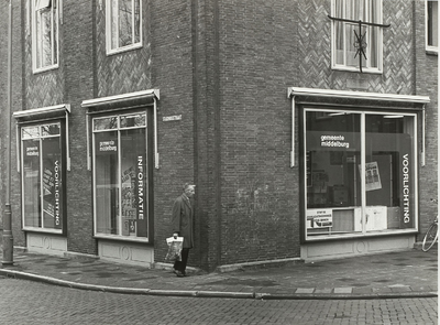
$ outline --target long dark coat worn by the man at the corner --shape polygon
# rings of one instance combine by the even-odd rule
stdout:
[[[184,237],[184,248],[194,247],[194,209],[190,201],[180,195],[173,205],[172,216],[173,232]]]

